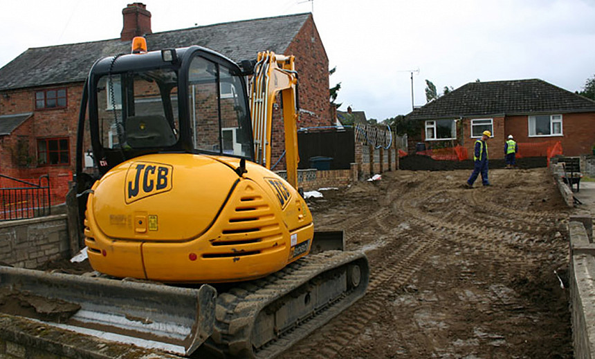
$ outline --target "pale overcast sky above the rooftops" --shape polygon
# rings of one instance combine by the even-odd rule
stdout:
[[[1,0],[0,67],[27,48],[120,37],[134,1]],[[341,110],[378,120],[468,82],[543,79],[570,91],[595,75],[595,0],[145,0],[153,32],[313,10],[337,68]],[[263,49],[266,50],[266,49]],[[299,59],[297,60],[299,61]]]

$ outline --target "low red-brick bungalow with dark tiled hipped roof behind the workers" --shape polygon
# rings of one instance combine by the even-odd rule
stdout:
[[[408,115],[420,122],[426,148],[461,145],[473,158],[475,140],[490,130],[491,158],[504,157],[504,142],[560,141],[564,154],[591,153],[595,101],[540,79],[471,82]]]

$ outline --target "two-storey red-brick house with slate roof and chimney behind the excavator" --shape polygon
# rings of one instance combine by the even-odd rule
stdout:
[[[233,61],[255,59],[257,52],[264,50],[295,55],[300,73],[298,127],[334,124],[329,102],[329,59],[312,14],[158,33],[152,33],[152,15],[143,3],[129,4],[122,15],[118,39],[30,48],[0,68],[1,174],[36,178],[49,173],[53,186],[65,186],[75,166],[77,117],[86,75],[96,59],[130,52],[134,36],[145,36],[149,51],[199,45]],[[283,126],[277,115],[272,163],[283,149]],[[62,188],[57,192],[65,193]]]

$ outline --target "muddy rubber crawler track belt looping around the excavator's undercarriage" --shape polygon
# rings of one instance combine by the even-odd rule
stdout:
[[[259,311],[318,275],[354,262],[360,266],[365,264],[362,282],[354,291],[300,325],[296,324],[277,340],[253,351],[250,335]],[[215,333],[203,345],[201,353],[219,358],[273,358],[358,300],[367,286],[368,273],[367,260],[362,253],[327,251],[309,255],[262,280],[240,284],[221,293],[217,299]]]

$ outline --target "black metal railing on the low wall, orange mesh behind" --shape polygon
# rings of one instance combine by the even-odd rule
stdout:
[[[24,220],[25,218],[51,215],[50,176],[42,175],[37,184],[0,175],[9,179],[14,187],[0,188],[0,221]],[[42,186],[45,179],[46,185]]]

